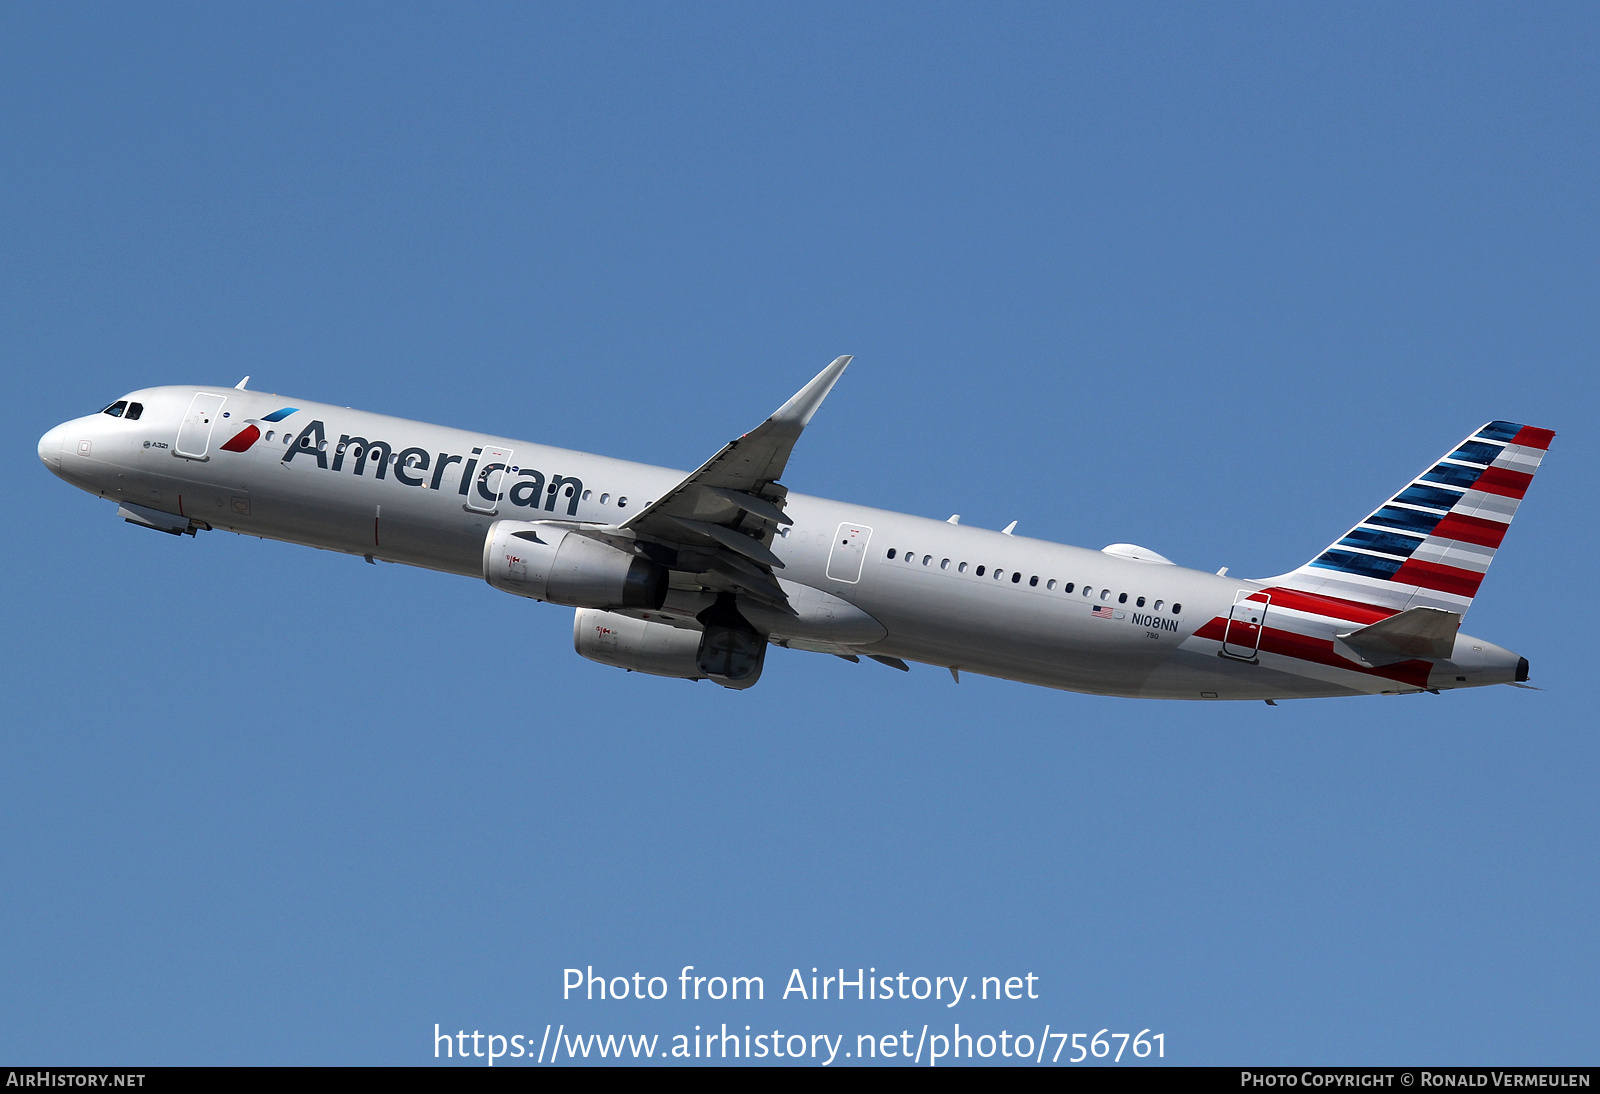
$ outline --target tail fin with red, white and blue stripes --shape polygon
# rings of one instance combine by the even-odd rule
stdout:
[[[1490,422],[1274,585],[1466,614],[1555,433]]]

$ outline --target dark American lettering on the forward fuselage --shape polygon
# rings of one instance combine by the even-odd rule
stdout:
[[[293,413],[293,408],[288,408],[288,411]],[[274,417],[262,421],[274,421]],[[251,443],[254,443],[254,438],[251,438]],[[578,502],[584,494],[581,478],[550,475],[549,481],[546,481],[541,470],[518,465],[507,467],[504,462],[493,459],[480,467],[478,456],[482,454],[482,448],[474,448],[469,456],[430,453],[426,448],[402,448],[395,451],[394,445],[386,440],[368,440],[365,437],[341,433],[339,443],[333,449],[333,461],[330,462],[326,425],[314,419],[283,451],[283,462],[290,464],[298,456],[302,456],[317,461],[317,467],[322,470],[349,472],[352,475],[365,475],[368,465],[371,465],[373,478],[386,478],[394,472],[395,481],[419,489],[445,489],[445,475],[450,473],[456,493],[462,497],[470,499],[475,488],[477,497],[486,504],[494,504],[504,496],[512,505],[523,505],[526,509],[539,509],[539,502],[542,501],[547,512],[555,512],[555,502],[565,494],[566,515],[578,515]],[[461,465],[459,480],[451,472],[451,467],[456,464]],[[490,488],[490,477],[494,472],[502,472],[498,489]],[[512,478],[515,481],[510,481]]]

